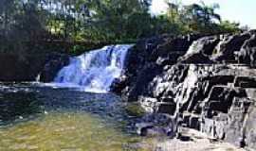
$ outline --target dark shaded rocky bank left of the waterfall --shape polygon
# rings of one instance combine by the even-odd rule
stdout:
[[[50,82],[67,65],[69,56],[62,54],[26,55],[0,54],[0,81],[24,82],[40,80]]]

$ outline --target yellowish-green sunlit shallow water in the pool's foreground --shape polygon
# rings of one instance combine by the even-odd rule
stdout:
[[[110,122],[110,121],[108,121]],[[0,150],[119,151],[140,142],[113,123],[85,112],[49,112],[26,123],[0,128]]]

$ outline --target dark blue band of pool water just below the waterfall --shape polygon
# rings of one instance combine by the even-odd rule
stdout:
[[[111,94],[78,92],[35,85],[0,85],[0,121],[7,124],[50,110],[73,109],[101,115],[102,118],[128,119],[119,97]]]

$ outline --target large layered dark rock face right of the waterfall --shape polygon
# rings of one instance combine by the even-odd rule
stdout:
[[[256,31],[141,40],[112,91],[179,126],[256,149]]]

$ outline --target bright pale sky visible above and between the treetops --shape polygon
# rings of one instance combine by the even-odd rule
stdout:
[[[181,1],[182,4],[188,5],[199,3],[202,0],[174,0]],[[256,0],[204,0],[205,4],[210,5],[217,3],[220,8],[216,10],[223,20],[238,22],[241,25],[248,25],[256,29]],[[153,0],[152,11],[155,14],[164,12],[166,5],[164,0]]]

